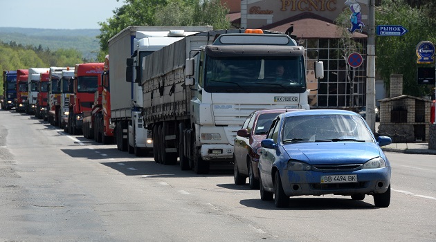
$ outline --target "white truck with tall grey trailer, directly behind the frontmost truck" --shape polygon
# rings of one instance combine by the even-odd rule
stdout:
[[[211,30],[211,26],[129,26],[109,39],[109,82],[111,86],[111,122],[117,148],[140,156],[153,148],[152,131],[145,129],[140,115],[143,89],[138,84],[143,59],[163,46],[186,35]],[[136,66],[126,77],[126,59]]]

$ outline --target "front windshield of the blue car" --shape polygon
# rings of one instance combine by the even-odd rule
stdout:
[[[282,142],[373,142],[363,120],[354,115],[302,115],[284,119]]]

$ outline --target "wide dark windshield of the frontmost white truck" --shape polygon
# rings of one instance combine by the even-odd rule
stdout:
[[[206,57],[204,89],[210,93],[303,93],[303,57]]]

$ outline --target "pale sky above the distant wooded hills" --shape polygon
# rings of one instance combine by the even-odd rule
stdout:
[[[0,0],[0,27],[100,29],[124,0]]]

